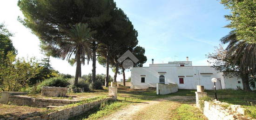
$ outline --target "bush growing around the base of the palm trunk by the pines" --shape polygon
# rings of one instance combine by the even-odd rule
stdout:
[[[68,79],[68,83],[70,84],[68,88],[83,88],[84,91],[89,91],[89,83],[82,78],[78,78],[77,86],[74,86],[74,78]]]

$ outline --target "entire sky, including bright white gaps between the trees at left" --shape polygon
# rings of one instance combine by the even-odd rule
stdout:
[[[145,48],[148,66],[151,59],[155,63],[185,61],[189,57],[193,65],[207,65],[205,54],[214,51],[219,39],[230,31],[223,26],[227,21],[223,16],[229,11],[218,0],[115,0],[132,21],[138,31],[139,45]],[[15,35],[13,45],[18,57],[41,59],[40,41],[29,29],[17,21],[22,13],[17,0],[1,0],[0,22]],[[54,69],[74,75],[75,67],[67,61],[51,58]],[[96,73],[105,74],[106,69],[96,64]],[[91,73],[92,64],[82,66],[82,74]],[[110,73],[112,76],[113,72]],[[127,71],[127,76],[130,72]],[[118,80],[122,76],[118,76]],[[128,77],[127,77],[128,78]]]

